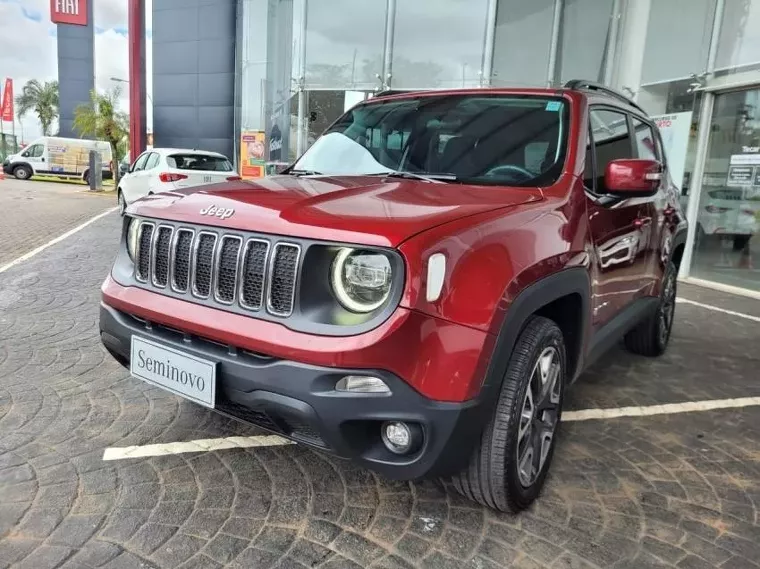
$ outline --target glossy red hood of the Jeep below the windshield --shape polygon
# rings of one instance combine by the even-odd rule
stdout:
[[[147,196],[130,206],[129,213],[242,231],[395,247],[455,219],[541,199],[537,188],[376,176],[273,176]],[[209,208],[213,208],[210,215]],[[223,213],[214,215],[219,210]]]

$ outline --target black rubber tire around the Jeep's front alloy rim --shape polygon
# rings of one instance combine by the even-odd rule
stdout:
[[[520,437],[525,421],[523,411],[528,400],[528,389],[534,384],[531,379],[537,369],[539,358],[547,352],[556,355],[556,360],[552,360],[551,369],[554,369],[554,361],[559,365],[556,381],[554,376],[552,377],[555,389],[552,389],[552,386],[545,388],[547,394],[549,390],[556,390],[555,410],[551,417],[553,427],[545,459],[541,461],[539,457],[540,464],[535,469],[535,474],[533,467],[530,473],[535,478],[525,484],[521,478],[524,473],[521,474],[518,464],[520,451],[525,448],[521,444],[523,438]],[[481,436],[480,444],[470,457],[469,466],[452,480],[454,487],[462,495],[503,512],[519,512],[530,506],[538,497],[549,471],[559,432],[567,373],[565,361],[565,342],[560,329],[548,318],[532,317],[515,344],[494,415]],[[533,392],[531,389],[531,394]],[[531,401],[535,401],[533,396]],[[534,404],[533,412],[536,408]],[[543,422],[545,417],[546,412],[542,412],[541,419],[536,417],[527,420],[529,429],[525,437],[530,439],[527,443],[543,439],[534,437],[534,434],[545,432],[536,430],[534,433],[534,420],[541,421],[536,424],[546,425]]]

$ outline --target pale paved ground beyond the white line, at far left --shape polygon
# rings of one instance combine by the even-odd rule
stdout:
[[[0,267],[116,205],[84,184],[0,180]]]

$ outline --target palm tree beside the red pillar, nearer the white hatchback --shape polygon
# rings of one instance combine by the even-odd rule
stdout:
[[[113,175],[119,185],[119,163],[125,155],[124,140],[129,134],[129,119],[118,110],[121,89],[114,87],[106,93],[90,92],[89,104],[79,105],[74,110],[74,130],[80,136],[93,136],[111,145]]]

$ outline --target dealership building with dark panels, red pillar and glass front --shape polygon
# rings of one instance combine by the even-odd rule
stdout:
[[[135,150],[145,17],[129,0]],[[91,49],[62,50],[65,25],[61,73]],[[612,86],[662,131],[694,228],[682,276],[760,295],[760,0],[153,0],[152,33],[155,145],[217,150],[248,176],[378,91]],[[68,83],[62,97],[87,92]]]

